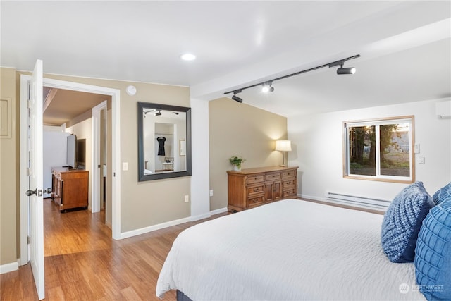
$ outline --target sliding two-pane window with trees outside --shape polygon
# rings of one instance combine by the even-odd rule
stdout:
[[[414,116],[343,125],[345,178],[414,182]]]

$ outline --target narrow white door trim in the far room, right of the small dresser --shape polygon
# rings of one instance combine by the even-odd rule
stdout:
[[[106,101],[97,104],[92,108],[92,166],[91,166],[91,180],[92,180],[92,195],[91,195],[91,211],[100,211],[100,123],[101,123],[101,110],[106,109]],[[99,167],[100,166],[100,167]]]

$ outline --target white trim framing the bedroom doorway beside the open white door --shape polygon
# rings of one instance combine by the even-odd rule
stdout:
[[[27,190],[27,150],[22,146],[27,145],[27,81],[30,78],[30,75],[20,75],[20,265],[27,264],[29,261],[27,245],[28,209],[25,195]],[[113,174],[111,223],[113,239],[121,239],[121,90],[50,78],[44,78],[43,85],[111,96],[111,144],[113,145],[111,153]]]

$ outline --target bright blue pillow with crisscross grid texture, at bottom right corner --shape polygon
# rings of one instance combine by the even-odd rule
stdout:
[[[451,300],[451,197],[433,207],[418,235],[415,275],[427,300]]]

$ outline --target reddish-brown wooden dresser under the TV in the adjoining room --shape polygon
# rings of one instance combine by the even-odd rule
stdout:
[[[87,209],[89,171],[51,168],[51,199],[59,205],[61,212],[67,209]]]

